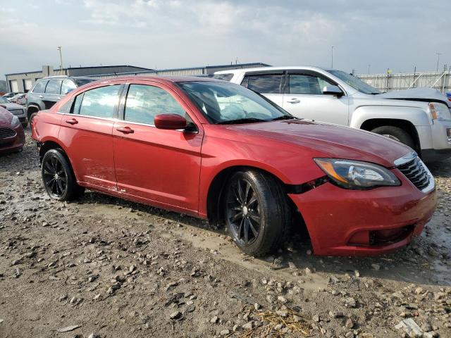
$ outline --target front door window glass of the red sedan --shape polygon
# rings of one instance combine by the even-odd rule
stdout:
[[[185,117],[185,109],[166,90],[147,84],[130,84],[125,101],[124,120],[154,125],[159,114],[178,114]]]

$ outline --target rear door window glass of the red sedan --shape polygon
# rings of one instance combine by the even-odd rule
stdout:
[[[113,84],[78,95],[73,106],[73,113],[78,112],[80,115],[97,118],[113,118],[118,107],[120,89],[120,84]]]

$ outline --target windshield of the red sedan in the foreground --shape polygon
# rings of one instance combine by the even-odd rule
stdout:
[[[214,124],[252,123],[293,118],[263,96],[228,82],[180,82],[206,118]]]

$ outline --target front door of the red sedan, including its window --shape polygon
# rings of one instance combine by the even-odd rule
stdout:
[[[113,127],[119,192],[197,214],[203,137],[200,123],[191,132],[157,129],[156,115],[175,113],[191,120],[194,114],[164,84],[137,80],[125,91],[123,120]]]

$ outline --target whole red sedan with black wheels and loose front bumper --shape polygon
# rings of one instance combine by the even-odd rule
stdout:
[[[32,123],[49,195],[89,188],[225,223],[243,251],[307,227],[314,253],[408,244],[435,183],[387,137],[299,120],[245,87],[197,77],[118,77],[71,92]]]

